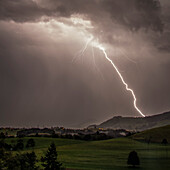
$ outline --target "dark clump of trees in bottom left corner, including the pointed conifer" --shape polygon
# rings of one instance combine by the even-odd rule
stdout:
[[[56,146],[52,143],[40,160],[34,151],[13,155],[4,148],[0,149],[0,170],[60,170],[62,163],[57,160]],[[41,168],[37,165],[41,164]]]

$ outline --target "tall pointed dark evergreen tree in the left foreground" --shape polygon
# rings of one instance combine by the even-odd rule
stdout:
[[[41,157],[42,166],[45,170],[59,170],[62,163],[57,161],[57,151],[54,143],[50,145],[44,157]]]

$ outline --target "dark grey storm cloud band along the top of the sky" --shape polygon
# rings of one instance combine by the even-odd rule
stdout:
[[[140,28],[162,31],[161,7],[158,0],[1,0],[0,19],[36,22],[41,17],[70,17],[82,14],[91,19],[109,15],[131,30]],[[94,20],[98,21],[97,20]]]

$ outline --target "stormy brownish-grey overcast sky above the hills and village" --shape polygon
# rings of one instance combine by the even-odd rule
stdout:
[[[170,110],[169,11],[169,0],[0,0],[0,126],[141,116],[96,44],[143,114]]]

